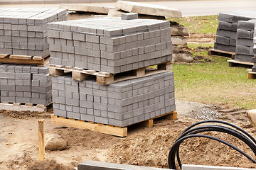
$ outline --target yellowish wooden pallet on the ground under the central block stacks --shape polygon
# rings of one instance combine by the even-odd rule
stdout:
[[[156,118],[160,118],[160,117],[166,118],[169,120],[176,120],[177,112],[173,111],[171,113],[166,113],[165,115],[157,116]],[[151,118],[141,123],[136,123],[136,125],[140,124],[148,128],[151,128],[153,127],[154,119],[156,118]],[[85,120],[75,120],[73,118],[64,118],[57,115],[51,115],[51,122],[54,125],[60,125],[60,126],[69,127],[69,128],[87,129],[87,130],[92,130],[94,132],[101,132],[107,135],[114,135],[118,137],[126,137],[128,133],[127,132],[128,127],[130,126],[129,125],[127,127],[118,127],[113,125],[105,125],[101,123],[87,122]]]

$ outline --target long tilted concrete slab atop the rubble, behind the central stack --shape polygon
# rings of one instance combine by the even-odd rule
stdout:
[[[181,11],[169,8],[166,6],[157,6],[153,4],[144,4],[132,1],[117,1],[116,7],[128,12],[152,15],[181,18]]]

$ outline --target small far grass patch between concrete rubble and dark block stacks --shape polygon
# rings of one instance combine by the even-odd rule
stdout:
[[[218,16],[188,16],[183,18],[167,18],[188,28],[189,33],[216,33]]]

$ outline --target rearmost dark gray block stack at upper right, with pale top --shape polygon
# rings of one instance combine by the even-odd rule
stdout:
[[[238,21],[249,21],[255,18],[255,11],[238,10],[230,13],[220,13],[214,49],[235,52]],[[240,41],[240,38],[238,38],[238,41]]]

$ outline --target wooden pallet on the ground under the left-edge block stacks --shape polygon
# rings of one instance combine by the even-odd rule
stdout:
[[[32,104],[32,103],[0,103],[0,110],[6,111],[37,111],[37,112],[45,112],[47,111],[48,105],[40,105],[40,104]]]

